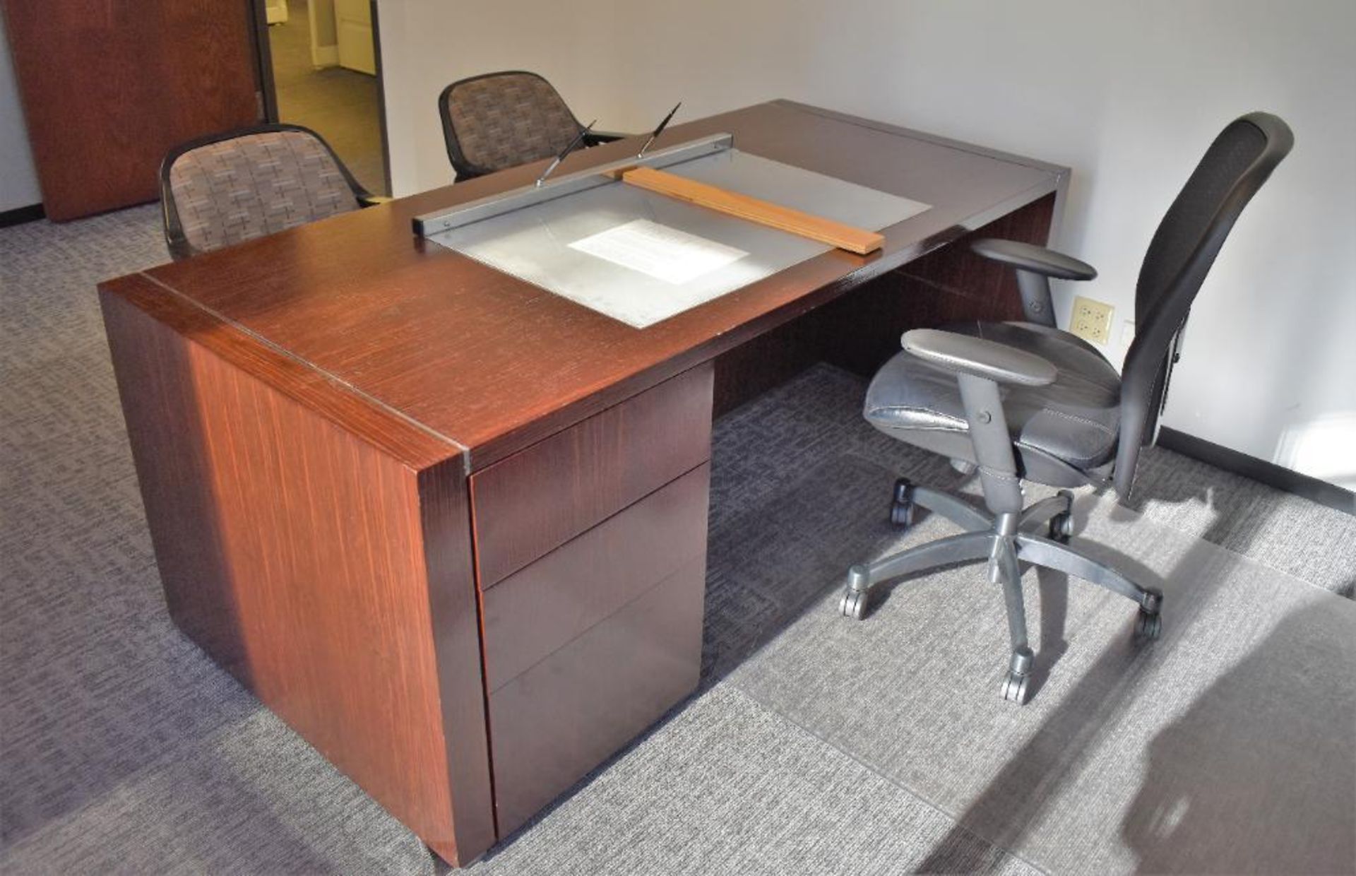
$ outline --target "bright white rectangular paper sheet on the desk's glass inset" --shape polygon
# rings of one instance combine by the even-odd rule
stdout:
[[[635,220],[570,244],[571,250],[681,286],[749,254],[650,220]]]

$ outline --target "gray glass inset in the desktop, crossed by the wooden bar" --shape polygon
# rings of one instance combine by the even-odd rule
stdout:
[[[869,231],[929,209],[738,149],[664,170]],[[635,328],[831,250],[621,182],[438,232],[428,240]]]

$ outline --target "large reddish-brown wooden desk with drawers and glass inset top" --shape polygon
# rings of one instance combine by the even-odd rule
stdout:
[[[175,621],[447,861],[697,683],[713,410],[1016,317],[945,244],[1044,243],[1067,178],[786,102],[663,141],[716,132],[934,206],[645,330],[411,233],[540,164],[100,286]]]

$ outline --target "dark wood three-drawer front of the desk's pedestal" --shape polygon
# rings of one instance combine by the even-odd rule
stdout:
[[[500,835],[697,686],[712,372],[471,476]]]

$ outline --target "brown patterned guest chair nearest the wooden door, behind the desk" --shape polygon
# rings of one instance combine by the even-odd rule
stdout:
[[[384,201],[300,125],[209,134],[160,164],[165,243],[176,260]]]

